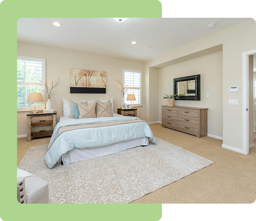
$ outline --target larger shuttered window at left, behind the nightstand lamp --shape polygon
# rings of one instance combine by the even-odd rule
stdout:
[[[45,82],[45,59],[17,56],[17,111],[30,111],[32,103],[26,103],[29,93],[45,93],[36,82]],[[44,103],[39,103],[43,109]]]

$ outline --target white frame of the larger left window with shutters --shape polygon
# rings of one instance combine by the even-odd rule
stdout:
[[[45,83],[45,59],[44,58],[39,58],[39,57],[28,57],[28,56],[21,56],[17,55],[17,60],[27,60],[27,61],[34,61],[34,62],[42,62],[42,82]],[[18,82],[17,85],[32,85],[32,86],[39,86],[37,83],[33,82]],[[45,92],[43,91],[43,86],[42,86],[42,97],[43,97],[43,102],[42,106],[40,107],[40,110],[45,109]],[[30,107],[17,107],[17,112],[30,112]]]

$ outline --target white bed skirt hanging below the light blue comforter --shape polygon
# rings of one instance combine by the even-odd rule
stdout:
[[[111,144],[104,147],[73,149],[68,151],[67,153],[62,154],[62,162],[63,164],[70,164],[76,161],[95,158],[97,156],[104,156],[112,153],[117,153],[119,151],[127,150],[133,147],[138,147],[141,145],[143,146],[149,145],[149,139],[145,137],[145,138],[138,138],[130,141],[123,141],[123,142]]]

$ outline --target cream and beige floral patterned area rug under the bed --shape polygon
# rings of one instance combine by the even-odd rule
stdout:
[[[49,203],[128,203],[214,163],[156,139],[157,145],[51,169],[44,160],[48,145],[30,147],[18,168],[48,181]]]

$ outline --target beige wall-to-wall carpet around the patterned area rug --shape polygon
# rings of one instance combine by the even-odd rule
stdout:
[[[195,136],[150,124],[154,135],[215,163],[172,182],[131,203],[170,204],[253,204],[256,202],[256,147],[249,155],[222,148],[222,141]],[[29,147],[47,143],[45,139],[26,142],[19,138],[17,164]],[[32,142],[34,142],[32,144]],[[45,143],[44,143],[45,142]],[[256,145],[256,139],[254,139]]]

